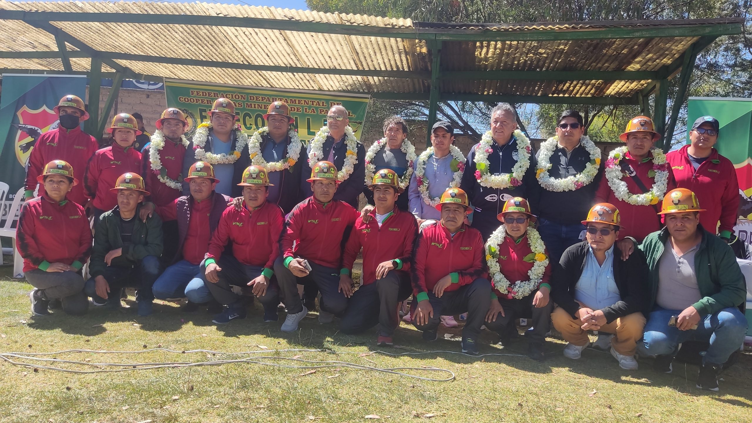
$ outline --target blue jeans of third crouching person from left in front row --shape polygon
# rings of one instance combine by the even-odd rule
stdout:
[[[200,267],[201,265],[186,260],[180,260],[169,266],[154,282],[154,297],[160,300],[188,297],[188,300],[193,303],[210,301],[211,294],[204,286]]]

